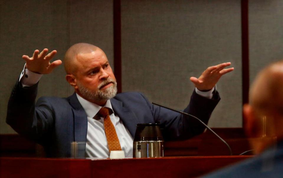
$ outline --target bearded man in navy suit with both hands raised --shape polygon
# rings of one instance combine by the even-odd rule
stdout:
[[[50,60],[56,54],[48,49],[32,57],[24,55],[24,70],[9,99],[6,122],[19,134],[43,145],[48,157],[70,157],[71,143],[81,144],[80,157],[109,157],[109,144],[104,130],[102,107],[109,112],[120,147],[126,157],[132,157],[133,137],[138,123],[159,122],[164,127],[164,139],[188,139],[205,127],[194,118],[152,105],[143,94],[117,93],[117,83],[105,53],[98,47],[78,43],[65,54],[66,80],[75,92],[68,98],[41,97],[35,105],[38,81],[60,65]],[[184,112],[203,122],[220,100],[215,84],[230,62],[208,67],[199,78],[191,77],[196,86]]]

